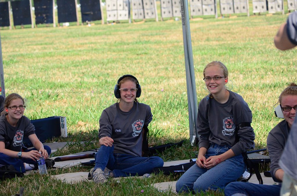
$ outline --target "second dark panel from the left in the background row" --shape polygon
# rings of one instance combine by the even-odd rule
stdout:
[[[30,2],[29,0],[11,1],[13,24],[31,24]]]

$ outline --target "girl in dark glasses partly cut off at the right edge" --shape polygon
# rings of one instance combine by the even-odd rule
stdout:
[[[284,170],[280,167],[279,161],[285,144],[290,134],[291,126],[294,123],[297,110],[297,85],[291,83],[279,96],[279,103],[285,120],[277,124],[268,134],[267,148],[269,152],[270,173],[275,182],[282,182]],[[296,149],[295,149],[296,150]],[[290,163],[288,163],[290,165]],[[296,168],[296,163],[292,162],[292,168]],[[281,184],[265,185],[246,182],[233,182],[226,186],[225,195],[280,195]]]

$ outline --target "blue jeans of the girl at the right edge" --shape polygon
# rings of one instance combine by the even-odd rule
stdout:
[[[281,185],[253,184],[248,182],[231,182],[225,187],[225,196],[279,196]]]

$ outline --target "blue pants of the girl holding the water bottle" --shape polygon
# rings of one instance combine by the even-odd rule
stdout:
[[[48,151],[48,155],[50,155],[50,152],[51,152],[50,147],[49,146],[43,146],[43,147],[46,151]],[[25,150],[24,152],[29,152],[31,150],[37,150],[37,149],[32,148],[30,150]],[[0,165],[4,165],[4,166],[13,165],[16,171],[25,173],[26,170],[24,167],[24,163],[37,165],[37,161],[34,161],[32,159],[13,158],[0,152]]]

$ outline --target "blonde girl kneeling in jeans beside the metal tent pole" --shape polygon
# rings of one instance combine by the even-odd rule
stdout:
[[[252,112],[239,94],[225,88],[226,66],[213,61],[206,65],[203,76],[209,94],[198,107],[198,158],[178,179],[176,192],[224,189],[244,173],[242,153],[255,146]]]

